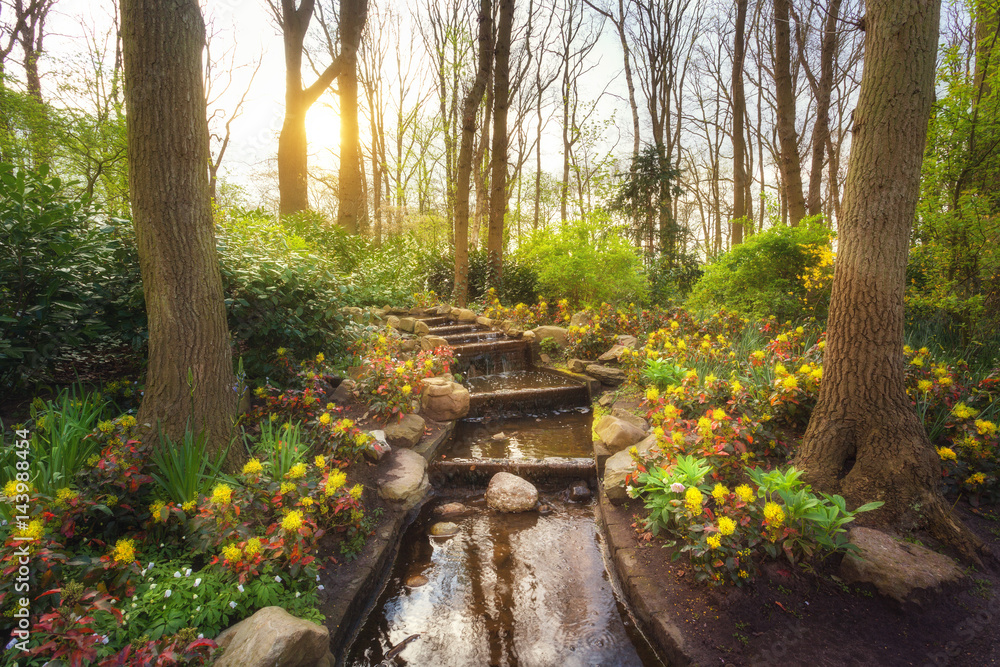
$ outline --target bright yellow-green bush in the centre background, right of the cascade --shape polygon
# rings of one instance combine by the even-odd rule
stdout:
[[[648,300],[649,285],[635,248],[596,214],[534,232],[518,257],[534,267],[538,291],[550,303],[568,299],[578,307]]]

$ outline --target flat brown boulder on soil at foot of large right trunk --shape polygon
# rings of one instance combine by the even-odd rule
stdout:
[[[872,528],[852,528],[850,542],[858,553],[844,556],[841,578],[874,584],[879,593],[900,602],[915,592],[937,589],[964,576],[951,558]]]

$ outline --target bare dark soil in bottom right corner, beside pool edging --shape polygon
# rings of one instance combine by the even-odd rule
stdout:
[[[612,511],[632,520],[645,512],[639,501]],[[1000,512],[962,505],[958,511],[1000,553]],[[643,547],[638,554],[663,585],[663,595],[673,601],[673,620],[698,664],[1000,664],[995,632],[1000,576],[995,569],[970,568],[963,583],[905,605],[872,586],[842,582],[839,556],[812,573],[786,562],[771,563],[752,585],[713,589],[694,581],[683,557],[671,563],[670,550],[638,536],[635,531],[635,546]],[[929,539],[924,543],[936,546]]]

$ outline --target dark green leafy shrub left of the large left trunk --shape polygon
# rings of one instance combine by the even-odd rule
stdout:
[[[101,224],[45,166],[0,164],[0,386],[44,372],[71,347],[141,342],[120,335],[142,294],[137,265],[119,274],[131,232],[118,222]]]

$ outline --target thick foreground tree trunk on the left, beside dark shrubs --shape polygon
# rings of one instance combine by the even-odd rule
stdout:
[[[233,376],[208,196],[208,123],[197,0],[122,0],[129,189],[149,320],[138,420],[174,439],[204,433],[227,447]],[[239,448],[229,450],[238,463]]]

